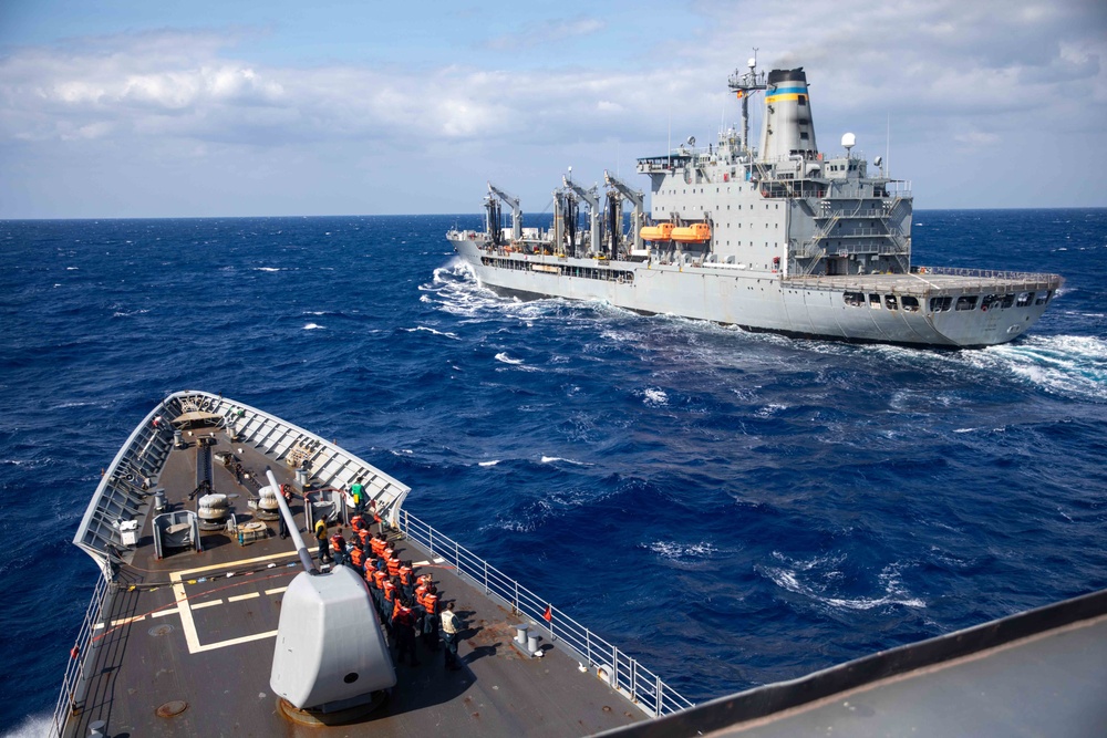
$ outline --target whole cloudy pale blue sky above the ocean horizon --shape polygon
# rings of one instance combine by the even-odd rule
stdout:
[[[542,212],[569,167],[648,190],[637,158],[739,119],[754,48],[917,209],[1107,206],[1104,0],[2,0],[0,218],[470,214],[487,181]]]

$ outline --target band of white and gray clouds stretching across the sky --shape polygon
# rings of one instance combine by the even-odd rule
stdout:
[[[21,157],[20,170],[31,170],[34,157],[46,160],[51,144],[64,144],[71,163],[80,155],[100,163],[124,157],[137,169],[156,163],[146,167],[156,177],[175,159],[206,162],[208,173],[197,168],[193,175],[199,180],[217,170],[226,179],[234,163],[252,180],[275,160],[289,170],[325,160],[358,186],[359,177],[371,185],[386,167],[391,189],[407,178],[413,191],[428,171],[476,180],[526,171],[534,184],[504,186],[519,194],[530,187],[528,199],[545,200],[569,163],[599,178],[602,168],[618,168],[620,156],[625,166],[631,157],[661,153],[670,126],[673,141],[712,139],[720,123],[737,117],[726,76],[744,66],[756,44],[762,69],[807,70],[824,147],[853,131],[862,147],[883,154],[890,122],[897,166],[923,185],[920,193],[951,193],[949,205],[975,204],[952,194],[958,184],[950,171],[1010,179],[1018,152],[1038,157],[1042,181],[1070,176],[1065,160],[1087,162],[1088,171],[1107,165],[1100,143],[1107,11],[1094,3],[726,0],[693,8],[702,22],[677,10],[687,22],[677,18],[668,25],[679,31],[662,37],[663,51],[658,38],[635,35],[633,48],[611,46],[612,63],[592,66],[575,64],[572,53],[563,66],[537,70],[475,62],[421,69],[275,64],[240,51],[239,41],[256,33],[241,29],[12,49],[0,58],[0,162]],[[582,15],[524,23],[504,38],[561,39],[572,46],[597,37],[607,44],[612,37],[604,31],[603,21]],[[461,43],[472,49],[480,41]],[[516,56],[517,50],[497,59]],[[1011,154],[1008,170],[997,166],[997,152]],[[976,164],[974,153],[992,158]],[[586,174],[583,165],[596,171]],[[12,171],[0,176],[10,183]],[[309,177],[283,180],[307,187],[301,183]],[[979,184],[986,194],[987,181]],[[1080,191],[1098,193],[1100,202],[1107,197],[1097,183]],[[389,196],[383,191],[374,202],[387,204]],[[474,202],[478,197],[470,194]],[[427,199],[425,207],[455,207],[435,202]],[[374,211],[393,207],[404,206]]]

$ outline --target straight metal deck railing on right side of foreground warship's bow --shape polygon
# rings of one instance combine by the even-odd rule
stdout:
[[[400,530],[432,558],[437,557],[453,565],[457,574],[468,579],[486,595],[498,600],[514,613],[549,634],[550,642],[559,642],[571,654],[624,697],[648,715],[660,717],[694,707],[656,674],[642,666],[638,659],[619,651],[572,617],[554,607],[548,601],[492,567],[448,536],[435,530],[415,516],[402,510]],[[547,610],[548,609],[548,610]],[[546,614],[549,613],[547,620]]]

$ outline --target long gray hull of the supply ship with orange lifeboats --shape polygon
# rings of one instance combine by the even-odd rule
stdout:
[[[650,261],[607,261],[554,254],[503,253],[477,237],[451,237],[457,253],[485,287],[518,294],[593,300],[649,314],[672,314],[795,336],[908,345],[977,347],[1022,335],[1047,306],[1047,300],[992,310],[932,311],[930,298],[977,298],[1004,284],[937,276],[869,276],[851,279],[788,279],[718,267]],[[587,276],[586,276],[587,274]],[[1035,284],[1031,284],[1032,287]],[[1051,291],[1056,284],[1039,283]],[[1039,290],[1041,291],[1041,290]],[[865,295],[850,304],[847,294]],[[899,309],[904,294],[920,308]],[[871,295],[879,295],[870,302]],[[896,295],[896,309],[889,309]]]

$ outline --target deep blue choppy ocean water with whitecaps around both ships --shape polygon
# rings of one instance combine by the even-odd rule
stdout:
[[[337,439],[695,700],[1107,586],[1107,210],[914,221],[917,264],[1067,283],[939,352],[499,298],[444,239],[478,216],[0,222],[0,730],[52,710],[70,541],[183,388]]]

